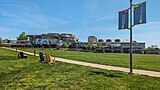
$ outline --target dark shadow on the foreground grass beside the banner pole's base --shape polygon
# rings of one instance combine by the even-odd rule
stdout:
[[[99,72],[99,71],[90,71],[89,75],[102,75],[102,76],[105,76],[105,77],[119,77],[119,78],[122,77],[120,75],[115,75],[113,73],[105,73],[105,72]]]

